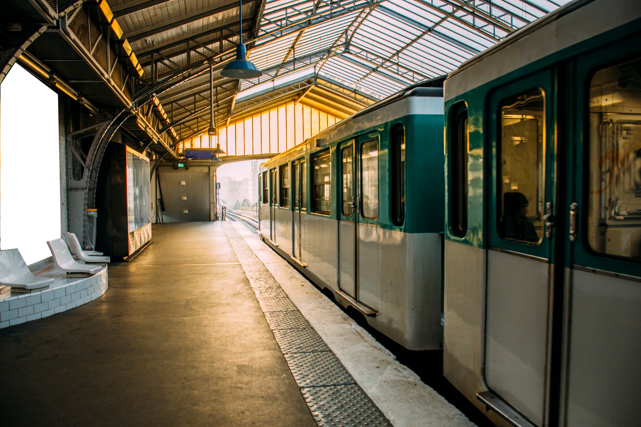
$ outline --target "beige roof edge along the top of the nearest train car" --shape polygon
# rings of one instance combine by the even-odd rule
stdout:
[[[445,101],[641,18],[639,0],[576,0],[515,31],[447,76]]]

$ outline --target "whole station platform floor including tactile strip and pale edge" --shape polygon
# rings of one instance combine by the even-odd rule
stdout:
[[[474,425],[239,222],[154,225],[0,360],[12,426]]]

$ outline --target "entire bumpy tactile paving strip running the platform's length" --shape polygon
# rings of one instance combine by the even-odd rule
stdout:
[[[316,423],[390,426],[233,224],[222,225]]]

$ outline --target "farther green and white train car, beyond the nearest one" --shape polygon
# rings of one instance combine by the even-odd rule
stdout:
[[[260,235],[411,350],[442,346],[444,77],[260,166]]]

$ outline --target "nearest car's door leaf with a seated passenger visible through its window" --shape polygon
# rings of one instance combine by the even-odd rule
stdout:
[[[489,104],[485,380],[536,426],[549,386],[556,152],[554,74],[500,88]]]

